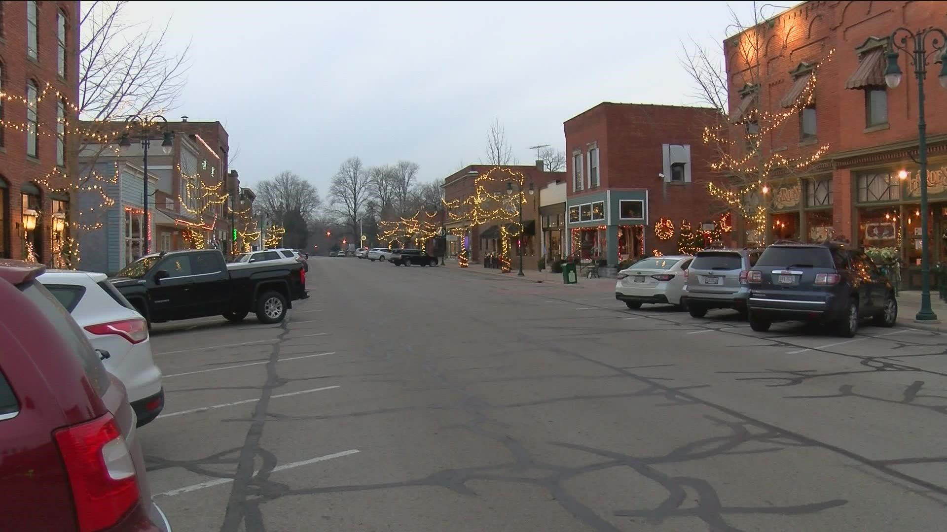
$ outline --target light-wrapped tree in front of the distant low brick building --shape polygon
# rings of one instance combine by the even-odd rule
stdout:
[[[503,192],[491,192],[491,183],[516,183],[513,186],[517,194],[507,194]],[[453,231],[457,234],[461,242],[471,227],[476,227],[482,223],[496,222],[500,226],[500,271],[507,273],[510,270],[509,241],[517,238],[523,233],[523,226],[519,224],[520,204],[526,203],[524,184],[526,176],[521,172],[510,168],[493,167],[490,171],[482,173],[474,180],[474,194],[463,200],[454,200],[444,202],[448,209],[448,219],[452,222],[462,222],[462,226]],[[469,257],[469,251],[466,246],[461,249],[461,254]]]

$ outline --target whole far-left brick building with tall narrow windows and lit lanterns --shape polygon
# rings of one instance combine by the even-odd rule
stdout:
[[[71,105],[79,99],[79,2],[3,2],[0,12],[0,257],[59,263]],[[58,96],[57,96],[58,93]],[[54,261],[53,257],[57,257]]]

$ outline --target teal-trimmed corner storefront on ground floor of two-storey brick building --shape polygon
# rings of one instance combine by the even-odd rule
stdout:
[[[583,261],[648,255],[648,190],[601,190],[566,200],[566,253]]]

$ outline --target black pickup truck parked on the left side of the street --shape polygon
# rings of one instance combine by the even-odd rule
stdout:
[[[217,250],[148,255],[109,280],[149,324],[217,315],[239,322],[249,312],[272,324],[283,320],[294,300],[309,296],[302,264],[228,269]]]

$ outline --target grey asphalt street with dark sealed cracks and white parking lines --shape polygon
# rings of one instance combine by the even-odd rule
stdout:
[[[313,258],[280,326],[157,327],[176,532],[934,531],[947,340]]]

